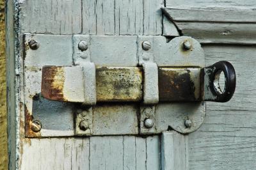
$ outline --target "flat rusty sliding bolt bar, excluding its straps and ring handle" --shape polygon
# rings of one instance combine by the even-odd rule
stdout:
[[[140,102],[143,100],[143,70],[139,67],[98,67],[97,102]],[[160,101],[199,101],[200,68],[159,68]],[[81,66],[44,66],[42,95],[49,100],[83,102]]]

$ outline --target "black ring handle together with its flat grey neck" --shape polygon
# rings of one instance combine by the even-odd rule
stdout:
[[[214,65],[204,68],[204,95],[205,100],[213,102],[228,102],[236,89],[236,72],[228,61],[218,61]],[[225,75],[225,87],[220,88],[221,72]]]

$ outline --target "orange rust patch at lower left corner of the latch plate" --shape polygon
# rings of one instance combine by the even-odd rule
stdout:
[[[26,137],[40,137],[40,132],[33,132],[31,130],[31,122],[33,121],[33,115],[28,111],[25,105],[25,136]]]

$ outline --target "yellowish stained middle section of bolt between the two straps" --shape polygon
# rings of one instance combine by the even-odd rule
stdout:
[[[141,68],[97,68],[97,101],[138,102],[143,95],[142,81]]]

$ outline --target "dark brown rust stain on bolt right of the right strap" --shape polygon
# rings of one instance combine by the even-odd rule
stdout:
[[[159,68],[159,100],[195,101],[195,84],[189,70],[179,72],[168,68]]]

